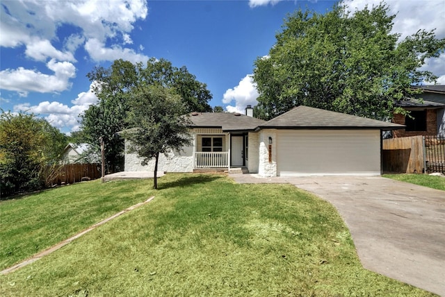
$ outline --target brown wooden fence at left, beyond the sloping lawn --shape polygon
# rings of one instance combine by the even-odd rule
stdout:
[[[100,164],[67,164],[56,168],[47,178],[47,185],[79,183],[102,177]]]

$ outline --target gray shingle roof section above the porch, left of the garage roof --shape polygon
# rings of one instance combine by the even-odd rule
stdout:
[[[223,131],[254,130],[265,121],[230,112],[192,112],[192,128],[222,128]]]

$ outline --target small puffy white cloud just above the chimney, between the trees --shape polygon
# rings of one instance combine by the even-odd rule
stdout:
[[[225,91],[223,95],[223,103],[231,103],[235,101],[236,106],[227,105],[229,112],[243,113],[247,105],[257,105],[258,92],[253,81],[252,74],[245,76],[236,87]]]

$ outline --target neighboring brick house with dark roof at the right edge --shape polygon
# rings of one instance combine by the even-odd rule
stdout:
[[[422,85],[413,88],[423,92],[414,98],[398,102],[398,106],[410,111],[411,117],[394,114],[393,122],[406,126],[404,130],[394,131],[394,137],[445,137],[445,85]]]

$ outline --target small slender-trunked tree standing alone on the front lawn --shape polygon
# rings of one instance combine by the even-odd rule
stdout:
[[[181,97],[166,87],[145,85],[133,93],[127,119],[132,128],[123,136],[129,139],[129,153],[136,152],[143,165],[154,158],[154,189],[158,188],[159,155],[191,144],[185,112]]]

